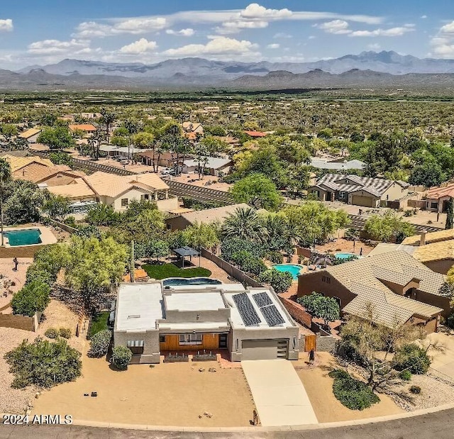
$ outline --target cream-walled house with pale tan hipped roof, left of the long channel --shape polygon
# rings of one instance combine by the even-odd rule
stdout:
[[[81,181],[82,180],[82,181]],[[77,184],[74,187],[74,183]],[[157,174],[115,175],[94,172],[73,182],[48,188],[53,194],[66,196],[72,201],[97,201],[112,206],[115,211],[125,211],[133,200],[155,201],[160,211],[178,209],[178,199],[169,196],[169,187]],[[89,198],[89,190],[92,197]],[[81,194],[84,199],[81,199]]]

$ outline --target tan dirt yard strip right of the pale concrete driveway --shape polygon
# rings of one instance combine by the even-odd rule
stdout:
[[[380,403],[362,411],[350,410],[343,406],[333,395],[333,379],[328,377],[336,361],[328,352],[317,352],[314,366],[307,365],[307,355],[302,355],[294,367],[304,384],[307,395],[320,423],[353,421],[404,413],[387,395],[380,394]]]

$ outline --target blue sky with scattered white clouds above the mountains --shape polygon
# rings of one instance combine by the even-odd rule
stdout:
[[[0,9],[0,68],[66,57],[308,62],[363,50],[454,58],[453,0],[16,0]],[[217,5],[217,6],[216,6]]]

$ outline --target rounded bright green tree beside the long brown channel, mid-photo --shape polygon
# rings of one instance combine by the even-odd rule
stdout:
[[[282,196],[276,185],[263,174],[251,174],[241,179],[231,188],[237,203],[248,203],[255,209],[276,210],[282,203]]]

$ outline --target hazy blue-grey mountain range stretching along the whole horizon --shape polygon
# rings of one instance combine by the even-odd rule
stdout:
[[[362,52],[317,62],[222,62],[203,58],[153,65],[62,60],[11,72],[1,89],[144,89],[160,87],[339,87],[355,84],[452,86],[454,60],[420,59],[397,52]]]

